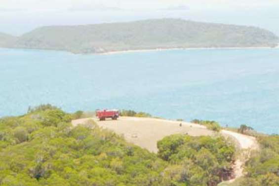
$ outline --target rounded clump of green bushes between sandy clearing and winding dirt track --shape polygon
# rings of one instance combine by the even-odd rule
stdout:
[[[173,186],[216,186],[232,176],[235,148],[222,137],[172,135],[159,141],[158,149],[171,164],[164,179]]]

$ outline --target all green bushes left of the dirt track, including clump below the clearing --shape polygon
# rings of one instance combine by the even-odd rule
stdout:
[[[43,105],[0,119],[1,186],[215,186],[230,174],[223,138],[174,135],[150,153],[94,121]]]

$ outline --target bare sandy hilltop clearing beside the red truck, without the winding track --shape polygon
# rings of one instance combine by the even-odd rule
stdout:
[[[90,118],[89,118],[90,119]],[[91,118],[95,121],[96,118]],[[72,121],[73,125],[82,124],[88,118]],[[165,136],[172,134],[189,134],[191,136],[213,135],[214,133],[207,130],[204,126],[170,121],[156,118],[139,118],[139,117],[120,117],[118,120],[97,121],[98,125],[111,129],[117,134],[123,135],[127,142],[157,152],[157,142]],[[182,123],[180,127],[179,124]]]

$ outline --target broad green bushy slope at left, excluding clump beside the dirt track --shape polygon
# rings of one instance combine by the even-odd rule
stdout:
[[[39,108],[0,120],[1,186],[160,186],[166,162],[92,121]]]

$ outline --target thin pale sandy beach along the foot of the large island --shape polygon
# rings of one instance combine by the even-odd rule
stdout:
[[[114,54],[124,54],[124,53],[137,53],[137,52],[159,52],[159,51],[171,51],[171,50],[245,50],[245,49],[278,49],[279,45],[276,47],[259,46],[259,47],[200,47],[200,48],[155,48],[155,49],[136,49],[136,50],[120,50],[111,51],[104,53],[93,53],[97,55],[114,55]]]

